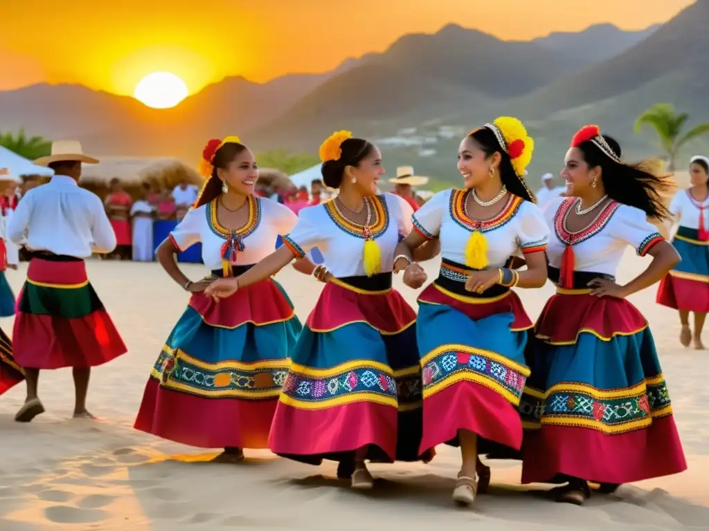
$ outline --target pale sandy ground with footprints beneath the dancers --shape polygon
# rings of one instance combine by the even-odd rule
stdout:
[[[620,280],[647,264],[625,256]],[[204,270],[185,265],[192,278]],[[427,266],[430,277],[437,263]],[[7,273],[19,290],[26,272]],[[44,372],[47,412],[13,422],[23,386],[0,398],[0,530],[679,530],[709,527],[708,353],[681,348],[679,320],[654,304],[654,290],[632,297],[657,341],[689,470],[593,496],[584,507],[553,503],[543,486],[528,492],[516,463],[491,462],[492,493],[474,510],[452,506],[457,450],[440,447],[431,464],[374,465],[372,493],[354,493],[335,466],[310,467],[269,452],[242,464],[208,463],[216,455],[133,430],[143,386],[187,295],[156,263],[89,263],[91,282],[130,352],[94,371],[89,409],[98,421],[73,420],[71,372]],[[279,274],[304,319],[320,285],[291,268]],[[400,279],[396,278],[401,287]],[[416,293],[401,292],[412,304]],[[535,317],[552,287],[520,290]],[[12,319],[3,319],[10,333]],[[709,338],[705,339],[709,343]],[[175,415],[179,415],[175,411]],[[591,456],[589,456],[591,457]],[[661,456],[657,456],[661,459]],[[593,456],[603,459],[603,455]]]

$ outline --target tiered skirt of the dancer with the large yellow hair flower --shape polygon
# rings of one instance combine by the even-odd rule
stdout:
[[[530,375],[524,349],[532,321],[515,292],[495,285],[465,290],[470,271],[443,261],[439,277],[418,297],[416,324],[423,367],[423,438],[420,448],[458,444],[469,430],[489,448],[519,450],[518,405]]]

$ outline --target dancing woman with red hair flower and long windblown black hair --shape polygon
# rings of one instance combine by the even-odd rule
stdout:
[[[527,349],[532,377],[520,409],[537,429],[525,433],[522,481],[566,483],[562,502],[584,503],[587,481],[613,491],[686,469],[652,333],[626,300],[679,262],[647,221],[669,215],[659,195],[667,183],[651,169],[624,164],[618,142],[587,125],[566,153],[569,197],[545,210],[558,288]],[[615,271],[629,245],[652,262],[619,285]]]

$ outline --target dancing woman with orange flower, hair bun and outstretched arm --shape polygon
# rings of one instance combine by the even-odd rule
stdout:
[[[320,279],[328,282],[292,351],[269,447],[311,464],[340,461],[339,476],[350,475],[344,469],[354,459],[352,487],[371,489],[364,459],[419,458],[416,316],[391,288],[394,249],[411,231],[412,211],[396,195],[376,195],[384,168],[367,140],[337,132],[320,147],[320,159],[325,185],[340,189],[337,198],[301,210],[284,246],[206,291],[223,297],[248,290],[320,249],[329,270]]]

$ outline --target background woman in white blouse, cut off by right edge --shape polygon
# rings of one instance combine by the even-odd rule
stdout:
[[[679,341],[701,350],[702,329],[709,312],[709,159],[693,156],[689,163],[691,187],[676,193],[669,205],[679,219],[672,245],[682,261],[660,282],[657,302],[679,310],[682,331]],[[689,326],[694,314],[694,333]]]

